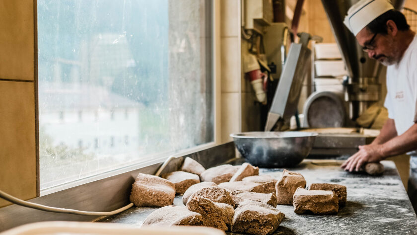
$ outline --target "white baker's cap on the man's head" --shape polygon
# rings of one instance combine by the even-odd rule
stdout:
[[[383,13],[394,9],[388,0],[359,0],[348,10],[344,23],[355,36]]]

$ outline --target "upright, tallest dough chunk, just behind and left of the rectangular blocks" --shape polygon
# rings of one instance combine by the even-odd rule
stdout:
[[[292,196],[298,187],[305,188],[304,177],[297,172],[284,169],[281,178],[275,185],[279,205],[292,205]]]

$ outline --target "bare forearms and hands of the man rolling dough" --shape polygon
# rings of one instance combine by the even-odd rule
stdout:
[[[404,154],[417,149],[417,124],[401,136],[396,136],[395,124],[389,119],[381,129],[381,134],[370,145],[359,146],[359,151],[342,165],[348,171],[358,171],[366,162],[380,161],[386,157]],[[391,139],[390,139],[391,138]]]

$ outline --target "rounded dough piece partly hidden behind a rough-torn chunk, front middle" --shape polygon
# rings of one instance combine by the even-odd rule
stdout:
[[[196,191],[193,193],[193,195],[190,196],[188,201],[197,197],[204,197],[210,199],[213,202],[225,203],[232,207],[235,206],[230,193],[226,189],[217,186],[205,187]]]

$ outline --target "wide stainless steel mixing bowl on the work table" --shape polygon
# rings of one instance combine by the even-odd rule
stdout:
[[[255,166],[290,167],[310,153],[318,134],[312,132],[243,132],[231,134],[242,157]]]

